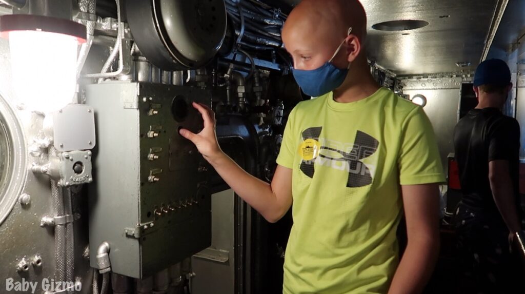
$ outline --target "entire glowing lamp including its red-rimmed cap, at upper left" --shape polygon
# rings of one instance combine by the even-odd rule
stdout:
[[[0,37],[9,40],[13,90],[19,103],[48,113],[72,102],[85,26],[49,16],[4,15]]]

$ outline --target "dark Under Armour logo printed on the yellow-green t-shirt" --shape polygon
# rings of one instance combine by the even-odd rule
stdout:
[[[313,139],[318,141],[322,127],[309,128],[302,133],[303,140]],[[314,162],[321,165],[331,166],[335,169],[348,172],[346,187],[355,188],[372,184],[372,175],[369,168],[361,160],[372,156],[379,146],[379,141],[371,135],[358,131],[355,136],[353,148],[350,152],[321,146],[319,156],[314,160],[303,160],[300,170],[307,176],[313,177],[315,173]],[[323,150],[328,152],[322,152]],[[328,155],[324,154],[327,153]],[[333,155],[338,153],[340,157]]]

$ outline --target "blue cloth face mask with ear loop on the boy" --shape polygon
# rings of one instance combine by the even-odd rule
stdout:
[[[348,35],[351,32],[352,28],[349,28]],[[306,95],[319,97],[341,86],[348,74],[350,64],[347,68],[340,69],[332,64],[332,60],[341,50],[345,40],[339,45],[332,58],[320,68],[313,70],[292,69],[293,77],[295,77],[299,87]]]

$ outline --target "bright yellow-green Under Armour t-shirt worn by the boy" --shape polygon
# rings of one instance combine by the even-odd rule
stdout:
[[[290,113],[277,159],[292,169],[283,293],[386,293],[398,265],[400,185],[444,182],[423,109],[381,88]]]

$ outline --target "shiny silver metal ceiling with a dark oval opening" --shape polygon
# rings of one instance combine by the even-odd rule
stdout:
[[[300,0],[267,2],[294,6]],[[471,62],[470,67],[464,68],[465,71],[475,69],[497,4],[497,0],[361,2],[368,16],[369,58],[398,75],[458,72],[461,69],[456,62]],[[373,24],[400,19],[426,20],[429,25],[394,32],[372,29]]]

